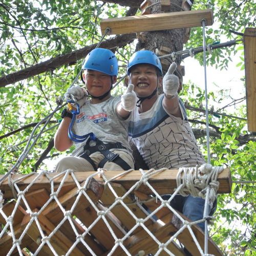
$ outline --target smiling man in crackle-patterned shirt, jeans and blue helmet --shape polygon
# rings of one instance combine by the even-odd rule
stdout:
[[[138,97],[128,133],[147,166],[154,169],[177,169],[206,163],[178,96],[179,79],[173,74],[176,67],[176,63],[172,63],[162,79],[161,62],[151,51],[136,52],[127,66],[129,82],[134,84]],[[162,81],[164,94],[158,95]],[[168,195],[164,196],[164,200],[168,198]],[[203,218],[204,202],[204,199],[191,195],[178,195],[171,205],[196,221]],[[204,222],[198,225],[204,230]]]

